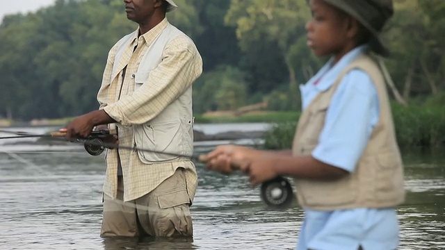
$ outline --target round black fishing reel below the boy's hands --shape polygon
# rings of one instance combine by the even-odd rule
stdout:
[[[291,183],[278,176],[261,184],[261,200],[268,208],[284,210],[290,208],[293,201],[293,190]]]

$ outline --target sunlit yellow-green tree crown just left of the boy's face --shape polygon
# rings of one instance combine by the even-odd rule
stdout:
[[[298,38],[305,36],[308,17],[304,0],[232,0],[226,22],[236,26],[243,51],[248,51],[254,44],[276,44],[289,72],[289,81],[295,83],[296,70],[289,52]]]

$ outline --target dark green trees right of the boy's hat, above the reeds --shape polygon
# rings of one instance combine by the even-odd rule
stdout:
[[[444,1],[395,1],[385,38],[391,50],[389,71],[404,99],[437,94],[444,78]]]

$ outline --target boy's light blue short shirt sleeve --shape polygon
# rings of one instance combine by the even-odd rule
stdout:
[[[319,144],[312,156],[323,163],[354,172],[379,113],[373,81],[366,72],[353,69],[344,76],[332,97]]]

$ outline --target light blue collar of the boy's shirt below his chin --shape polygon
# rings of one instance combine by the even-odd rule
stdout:
[[[327,90],[332,84],[334,84],[334,81],[337,80],[339,74],[345,67],[352,63],[355,58],[360,56],[362,53],[366,53],[366,51],[368,50],[369,46],[366,44],[355,47],[353,50],[346,53],[346,55],[343,56],[335,65],[332,65],[332,63],[334,63],[334,58],[330,58],[330,60],[328,60],[325,65],[323,65],[320,71],[318,71],[318,73],[314,77],[312,77],[306,85],[314,84],[314,82],[317,81],[318,78],[321,78],[321,80],[316,85],[316,88],[320,92]]]

